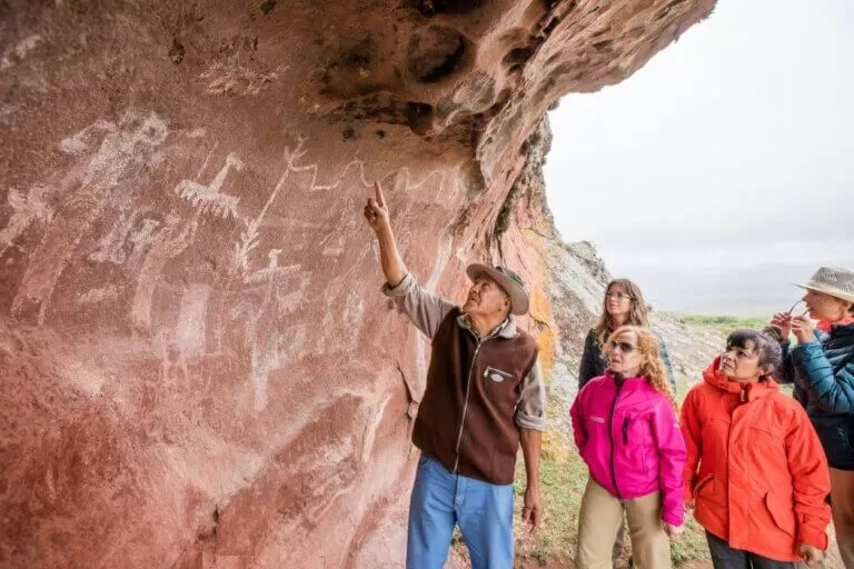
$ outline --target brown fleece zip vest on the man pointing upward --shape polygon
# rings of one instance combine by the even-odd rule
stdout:
[[[451,472],[509,485],[519,448],[516,402],[536,361],[537,342],[519,331],[478,345],[474,332],[457,323],[460,315],[451,310],[433,339],[413,442]]]

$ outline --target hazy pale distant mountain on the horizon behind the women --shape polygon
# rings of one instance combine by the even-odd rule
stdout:
[[[637,282],[656,310],[764,318],[792,307],[803,296],[793,283],[806,281],[821,264],[854,268],[854,260],[689,270],[618,267],[615,274]]]

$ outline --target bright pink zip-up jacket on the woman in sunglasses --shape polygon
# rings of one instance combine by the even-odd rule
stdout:
[[[661,490],[662,520],[684,518],[685,439],[676,411],[644,378],[592,379],[569,411],[575,443],[590,477],[612,496],[639,498]]]

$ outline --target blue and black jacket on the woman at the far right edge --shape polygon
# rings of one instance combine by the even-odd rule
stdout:
[[[783,376],[795,383],[831,468],[854,470],[854,325],[815,331],[816,340],[790,350]]]

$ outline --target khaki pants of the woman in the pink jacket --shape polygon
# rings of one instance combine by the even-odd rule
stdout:
[[[613,567],[612,552],[625,508],[632,561],[637,569],[669,569],[671,540],[662,527],[662,498],[658,492],[630,500],[618,500],[593,479],[582,498],[578,515],[578,569]]]

